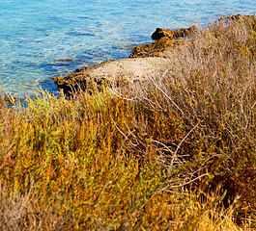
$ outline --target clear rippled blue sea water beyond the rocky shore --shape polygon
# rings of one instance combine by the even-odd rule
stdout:
[[[156,27],[255,14],[254,0],[0,0],[0,80],[18,97],[77,67],[126,58]]]

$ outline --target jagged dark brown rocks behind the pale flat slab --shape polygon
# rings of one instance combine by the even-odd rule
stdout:
[[[185,38],[192,36],[196,27],[181,28],[179,30],[167,30],[156,28],[152,39],[156,41],[136,46],[129,58],[138,57],[164,57],[164,51],[177,45],[185,43]]]

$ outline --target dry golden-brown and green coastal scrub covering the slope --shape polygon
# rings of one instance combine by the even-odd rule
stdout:
[[[256,229],[256,17],[144,81],[0,103],[1,230]]]

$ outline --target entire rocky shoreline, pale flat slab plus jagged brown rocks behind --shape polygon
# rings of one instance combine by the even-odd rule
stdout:
[[[53,77],[53,81],[68,95],[85,90],[91,82],[98,85],[115,82],[117,86],[124,86],[141,81],[152,73],[160,73],[167,63],[165,52],[185,44],[185,38],[190,38],[196,30],[195,26],[179,30],[156,28],[152,35],[155,41],[136,46],[128,59],[79,68],[66,77]]]

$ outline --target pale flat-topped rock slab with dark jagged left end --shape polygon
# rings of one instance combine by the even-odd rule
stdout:
[[[102,84],[114,83],[117,87],[143,81],[151,75],[160,74],[165,70],[167,59],[135,58],[107,61],[91,67],[77,69],[67,77],[54,77],[53,81],[65,94],[86,90],[92,83],[101,87]]]

